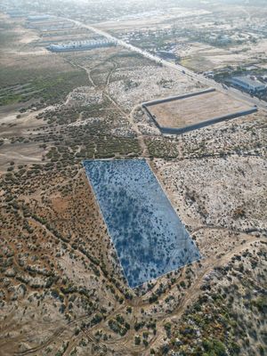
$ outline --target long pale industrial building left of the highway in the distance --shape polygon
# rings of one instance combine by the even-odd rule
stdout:
[[[51,52],[71,52],[71,51],[88,51],[93,48],[99,47],[109,47],[110,45],[115,45],[114,41],[108,39],[102,39],[98,41],[78,41],[69,42],[68,44],[50,44],[46,47]]]

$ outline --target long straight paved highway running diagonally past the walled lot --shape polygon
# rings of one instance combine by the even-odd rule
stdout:
[[[180,64],[174,64],[172,62],[165,61],[165,60],[159,58],[158,56],[149,53],[148,51],[145,51],[145,50],[142,50],[141,48],[135,47],[133,44],[128,44],[127,42],[125,42],[121,39],[118,39],[115,36],[109,35],[108,32],[105,32],[105,31],[101,30],[100,28],[95,28],[90,25],[85,25],[84,23],[77,21],[77,20],[65,19],[65,18],[64,19],[61,18],[61,20],[69,20],[69,21],[75,23],[80,28],[90,29],[94,33],[108,38],[109,40],[115,42],[116,44],[121,45],[122,47],[125,47],[129,51],[134,51],[135,53],[140,53],[140,54],[142,54],[143,57],[148,58],[151,61],[156,61],[157,63],[161,63],[162,65],[164,65],[168,68],[178,70],[183,75],[191,77],[195,80],[198,80],[200,83],[203,83],[207,86],[214,87],[216,90],[218,90],[222,93],[228,93],[233,98],[235,98],[239,101],[245,101],[248,105],[257,106],[259,109],[263,109],[263,110],[267,111],[266,101],[261,101],[258,98],[252,97],[247,93],[242,93],[238,89],[235,89],[232,87],[228,87],[227,89],[223,88],[223,85],[215,82],[213,79],[209,79],[209,78],[206,78],[200,74],[197,74],[190,69],[182,67]]]

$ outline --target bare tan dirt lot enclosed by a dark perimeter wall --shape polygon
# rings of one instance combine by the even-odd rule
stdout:
[[[247,103],[219,93],[198,95],[150,105],[150,113],[162,127],[182,128],[251,109]]]

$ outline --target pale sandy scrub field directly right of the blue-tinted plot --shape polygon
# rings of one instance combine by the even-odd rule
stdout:
[[[154,162],[182,219],[188,221],[186,215],[194,210],[194,219],[190,221],[193,230],[203,224],[237,231],[267,229],[267,214],[263,209],[267,206],[264,158],[232,156],[179,163],[160,159]],[[244,172],[242,177],[239,172]],[[234,194],[237,187],[238,196]],[[180,207],[179,201],[184,198],[186,204]]]

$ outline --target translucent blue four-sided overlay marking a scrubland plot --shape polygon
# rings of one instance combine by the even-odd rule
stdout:
[[[200,258],[144,159],[84,166],[130,287]]]

